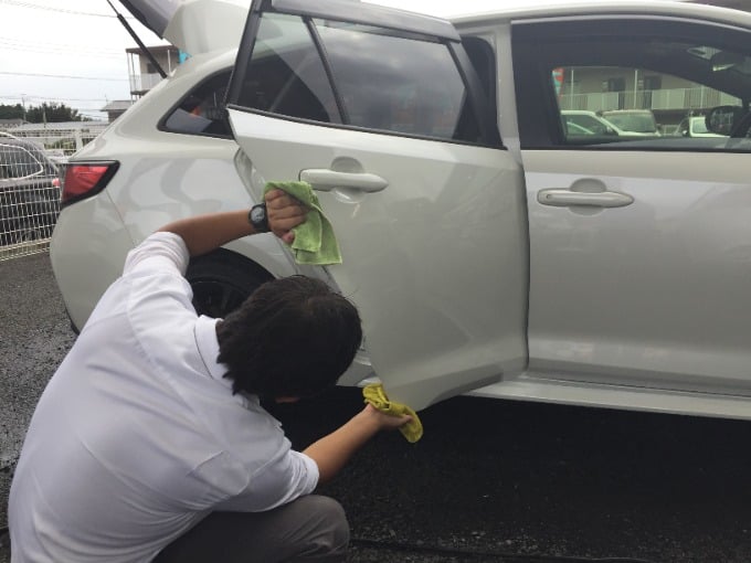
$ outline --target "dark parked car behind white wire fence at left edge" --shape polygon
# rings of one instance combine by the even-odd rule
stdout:
[[[32,141],[0,136],[0,246],[49,238],[59,212],[55,164]]]

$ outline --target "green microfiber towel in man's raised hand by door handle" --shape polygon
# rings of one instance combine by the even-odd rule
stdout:
[[[341,264],[341,253],[334,227],[320,209],[318,195],[308,182],[268,182],[264,188],[264,195],[269,190],[283,190],[299,200],[308,208],[305,223],[293,229],[295,240],[292,243],[293,254],[297,264]]]

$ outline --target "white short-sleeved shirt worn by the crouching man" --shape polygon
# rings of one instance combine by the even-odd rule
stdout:
[[[313,491],[256,397],[232,394],[179,236],[128,255],[36,406],[10,493],[12,563],[148,562],[214,510]]]

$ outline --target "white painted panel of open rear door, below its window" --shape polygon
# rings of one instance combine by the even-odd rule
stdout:
[[[522,368],[523,194],[505,150],[235,109],[230,118],[257,169],[257,193],[266,180],[337,161],[388,181],[378,193],[341,188],[318,196],[343,258],[328,272],[360,309],[376,374],[393,400],[423,408]]]

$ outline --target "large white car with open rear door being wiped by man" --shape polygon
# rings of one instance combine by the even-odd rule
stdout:
[[[139,13],[192,56],[67,167],[51,256],[76,327],[155,229],[302,179],[343,264],[302,268],[272,235],[236,241],[191,265],[199,310],[304,273],[362,314],[366,350],[343,382],[378,376],[417,410],[472,390],[751,418],[751,14],[176,6]],[[626,96],[639,76],[652,95]],[[698,89],[729,137],[561,127],[565,96],[686,115]]]

